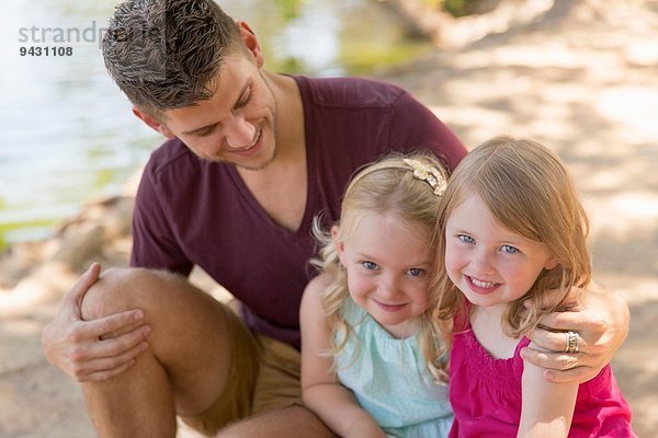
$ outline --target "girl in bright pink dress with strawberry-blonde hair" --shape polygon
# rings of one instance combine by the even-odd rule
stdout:
[[[610,366],[563,383],[520,356],[544,315],[587,300],[588,231],[571,176],[537,142],[495,138],[457,166],[436,233],[436,315],[453,321],[451,437],[635,437]],[[583,346],[564,338],[565,353]]]

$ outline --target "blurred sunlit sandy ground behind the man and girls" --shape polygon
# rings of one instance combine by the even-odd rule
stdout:
[[[381,77],[410,90],[469,147],[508,134],[538,139],[567,161],[592,219],[595,278],[631,308],[613,367],[638,436],[656,437],[658,7],[561,3],[541,23]],[[89,261],[126,264],[131,203],[97,204],[54,239],[0,257],[0,437],[94,436],[79,388],[43,357],[41,331]]]

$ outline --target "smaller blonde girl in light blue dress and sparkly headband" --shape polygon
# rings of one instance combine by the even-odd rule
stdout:
[[[302,392],[341,437],[447,436],[429,289],[445,182],[431,154],[389,155],[354,176],[340,223],[316,232],[322,274],[302,300]]]

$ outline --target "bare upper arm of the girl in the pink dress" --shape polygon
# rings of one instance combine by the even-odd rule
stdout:
[[[531,343],[532,345],[532,343]],[[532,345],[533,348],[540,348]],[[544,369],[523,361],[521,423],[518,437],[566,437],[571,427],[578,382],[549,382]]]

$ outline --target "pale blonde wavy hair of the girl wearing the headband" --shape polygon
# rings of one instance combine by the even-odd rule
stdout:
[[[338,257],[337,241],[349,239],[365,215],[393,215],[411,226],[427,227],[430,232],[436,223],[440,196],[434,194],[434,188],[428,181],[413,176],[413,169],[404,159],[430,165],[440,173],[443,181],[447,178],[444,165],[430,153],[392,153],[363,168],[352,178],[343,196],[336,235],[321,229],[319,217],[314,221],[314,234],[320,243],[320,251],[319,257],[313,260],[311,264],[334,277],[334,281],[322,292],[326,321],[332,334],[331,346],[324,351],[328,357],[336,358],[349,337],[354,335],[342,313],[350,293],[347,272]],[[433,253],[433,241],[428,242],[430,253]],[[436,293],[429,293],[428,309],[419,318],[419,344],[432,374],[436,380],[446,381],[446,349],[441,337],[446,332],[441,327],[443,322],[432,318],[436,297]],[[333,366],[336,369],[336,361]]]

